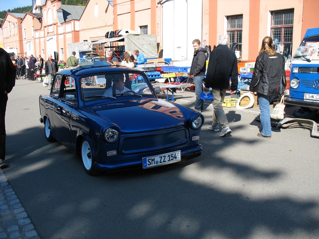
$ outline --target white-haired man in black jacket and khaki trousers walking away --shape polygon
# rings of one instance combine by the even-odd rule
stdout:
[[[219,123],[222,130],[220,137],[230,134],[232,131],[229,127],[226,114],[222,103],[226,95],[226,90],[229,87],[229,79],[231,79],[230,94],[236,93],[238,85],[238,67],[237,57],[228,46],[228,36],[221,35],[218,37],[218,46],[211,51],[206,73],[205,91],[210,90],[214,100],[214,114],[210,130],[219,132]],[[210,89],[209,89],[210,88]]]

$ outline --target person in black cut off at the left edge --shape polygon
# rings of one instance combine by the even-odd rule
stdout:
[[[9,54],[0,48],[0,168],[8,166],[5,160],[5,111],[8,101],[8,93],[15,85],[16,69]]]

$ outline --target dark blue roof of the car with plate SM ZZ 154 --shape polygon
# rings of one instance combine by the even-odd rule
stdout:
[[[101,62],[101,61],[99,61],[99,62]],[[107,62],[105,62],[105,63],[107,63]],[[103,64],[105,64],[105,63],[103,63]],[[97,64],[96,62],[93,62],[93,65],[79,66],[79,67],[75,67],[75,68],[67,68],[67,69],[64,69],[64,70],[57,72],[57,74],[80,76],[80,75],[89,75],[89,74],[98,75],[99,73],[104,73],[104,72],[109,72],[109,73],[116,73],[116,72],[125,73],[125,72],[127,72],[127,73],[135,73],[135,74],[144,74],[144,72],[141,70],[132,69],[132,68],[128,68],[125,66],[115,66],[115,65],[110,65],[110,64],[101,66],[100,64]]]

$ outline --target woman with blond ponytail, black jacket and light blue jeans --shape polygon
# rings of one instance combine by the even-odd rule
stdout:
[[[274,51],[271,37],[265,37],[257,56],[250,83],[250,93],[257,92],[260,109],[261,133],[257,136],[271,138],[270,102],[282,95],[286,88],[285,58]]]

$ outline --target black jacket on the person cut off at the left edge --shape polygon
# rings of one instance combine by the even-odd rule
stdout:
[[[16,68],[13,66],[9,54],[0,48],[0,93],[10,93],[16,83]]]

